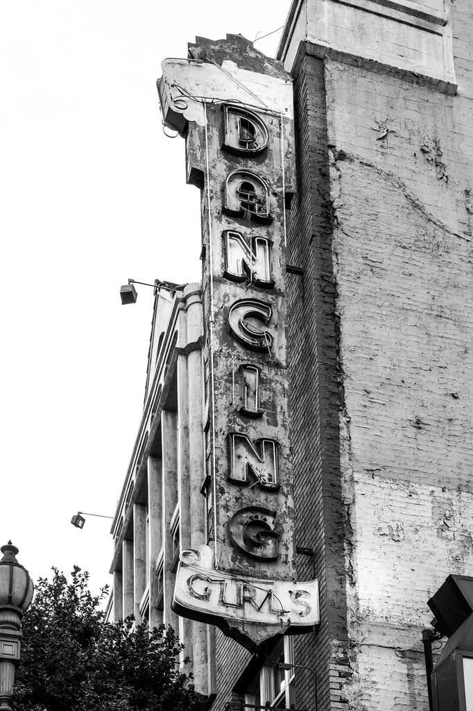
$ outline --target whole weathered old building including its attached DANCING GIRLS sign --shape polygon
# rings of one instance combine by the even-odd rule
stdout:
[[[472,30],[467,0],[294,0],[278,60],[163,65],[202,284],[157,289],[114,614],[173,624],[214,710],[428,709],[427,601],[473,571]],[[176,615],[180,553],[217,543],[253,583]]]

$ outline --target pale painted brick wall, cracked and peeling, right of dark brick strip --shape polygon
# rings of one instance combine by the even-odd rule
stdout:
[[[455,97],[325,61],[358,711],[428,708],[427,600],[473,575],[473,9],[451,5]]]

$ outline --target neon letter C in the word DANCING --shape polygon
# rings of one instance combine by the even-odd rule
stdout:
[[[258,323],[267,326],[272,315],[271,304],[266,301],[239,299],[229,308],[227,326],[242,346],[263,353],[271,349],[274,339],[271,333],[266,331],[266,328],[261,328]]]

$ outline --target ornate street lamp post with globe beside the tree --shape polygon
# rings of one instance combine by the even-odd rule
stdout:
[[[16,560],[18,548],[0,548],[0,710],[12,711],[15,668],[20,659],[21,618],[33,599],[33,581]]]

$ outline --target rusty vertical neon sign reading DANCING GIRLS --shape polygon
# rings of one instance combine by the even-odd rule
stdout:
[[[228,78],[223,65],[167,60],[158,82],[168,127],[188,121],[187,175],[202,189],[202,476],[212,513],[207,545],[183,552],[173,607],[254,648],[319,621],[317,582],[295,582],[293,548],[285,331],[292,87],[274,70],[266,81],[275,106],[258,106],[249,70]]]

